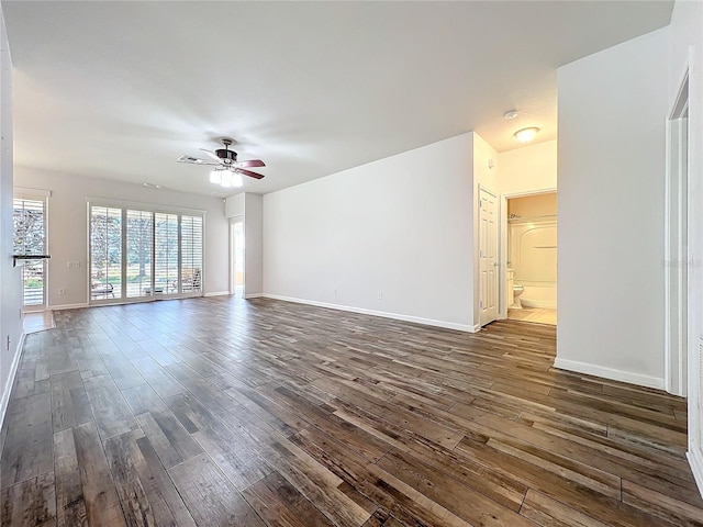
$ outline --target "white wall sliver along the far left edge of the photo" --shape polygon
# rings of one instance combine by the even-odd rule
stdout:
[[[0,7],[0,426],[21,352],[22,288],[12,267],[12,63]],[[9,343],[9,344],[8,344]]]

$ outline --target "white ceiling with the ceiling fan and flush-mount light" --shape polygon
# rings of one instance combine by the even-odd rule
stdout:
[[[266,193],[471,130],[549,141],[557,67],[672,3],[3,0],[15,164],[210,194],[176,159],[230,136]]]

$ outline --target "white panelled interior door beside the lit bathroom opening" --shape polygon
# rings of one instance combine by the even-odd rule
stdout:
[[[487,189],[479,190],[479,323],[498,318],[498,198]]]

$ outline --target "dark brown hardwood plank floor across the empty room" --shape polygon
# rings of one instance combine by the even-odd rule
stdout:
[[[693,526],[687,407],[470,335],[271,300],[56,314],[1,435],[1,526]]]

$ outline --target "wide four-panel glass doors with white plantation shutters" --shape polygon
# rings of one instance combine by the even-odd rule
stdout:
[[[202,291],[203,217],[90,205],[92,303]]]

